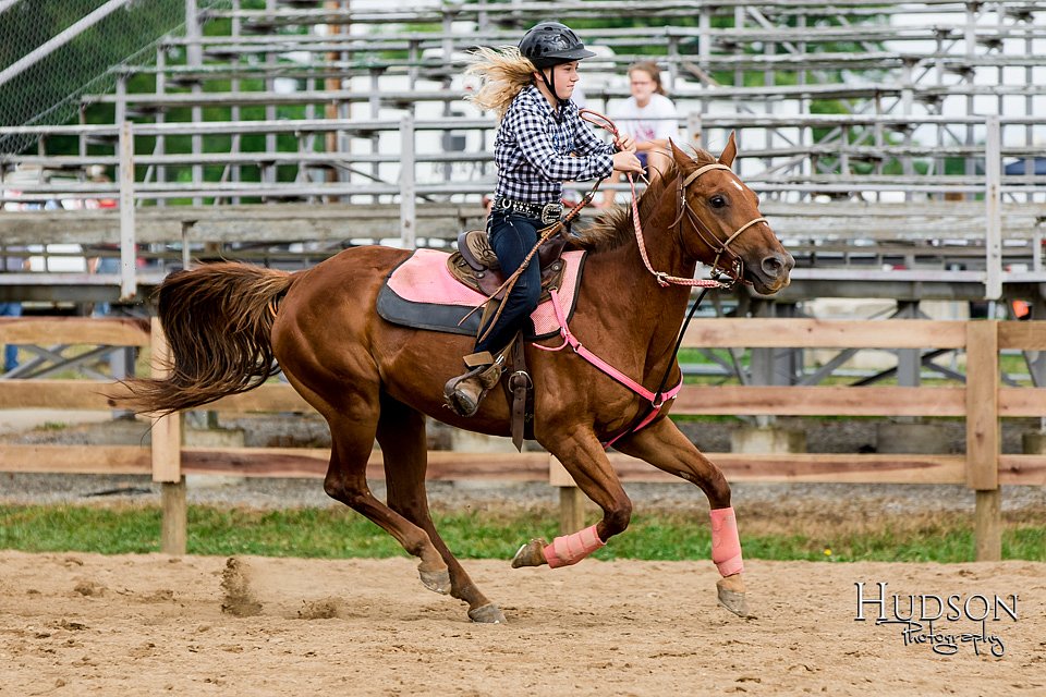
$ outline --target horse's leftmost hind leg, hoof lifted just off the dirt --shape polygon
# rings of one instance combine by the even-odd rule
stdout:
[[[367,458],[374,448],[377,412],[375,404],[369,418],[358,418],[358,414],[357,418],[328,418],[331,438],[330,466],[324,479],[324,490],[327,496],[362,513],[394,537],[408,553],[421,559],[417,571],[422,583],[429,590],[447,594],[450,591],[447,564],[428,534],[375,498],[367,486]]]

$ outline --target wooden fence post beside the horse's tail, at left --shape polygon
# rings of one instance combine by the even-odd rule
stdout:
[[[153,318],[150,330],[151,374],[154,378],[165,378],[170,372],[170,345],[158,318]],[[160,527],[160,551],[165,554],[185,553],[187,512],[181,448],[181,416],[169,414],[154,418],[153,481],[159,481],[161,486],[163,519]]]

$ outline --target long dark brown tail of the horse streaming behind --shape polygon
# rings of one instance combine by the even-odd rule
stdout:
[[[287,271],[235,262],[170,274],[157,289],[170,374],[127,380],[131,394],[110,402],[169,414],[258,387],[279,370],[272,323],[277,302],[293,282]]]

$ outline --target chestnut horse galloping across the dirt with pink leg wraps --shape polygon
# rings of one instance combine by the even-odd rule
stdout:
[[[640,199],[642,235],[633,229],[634,213],[620,208],[572,243],[591,252],[570,330],[647,390],[657,390],[666,376],[672,386],[681,381],[674,347],[691,295],[682,283],[693,279],[698,261],[731,270],[763,294],[784,288],[794,262],[762,218],[756,195],[730,170],[737,154],[732,134],[718,158],[702,150],[691,157],[674,145],[672,150],[673,163]],[[425,417],[507,436],[508,400],[491,390],[475,416],[457,416],[443,406],[443,383],[460,372],[472,339],[399,327],[378,317],[378,292],[410,254],[367,246],[296,273],[231,262],[172,273],[158,290],[171,375],[132,380],[134,396],[125,402],[154,413],[198,407],[251,390],[282,369],[330,426],[325,491],[417,557],[426,587],[469,603],[469,616],[476,622],[503,622],[429,516]],[[562,340],[540,343],[556,346]],[[600,442],[621,433],[627,435],[615,443],[617,450],[701,487],[713,509],[714,540],[722,536],[717,510],[729,511],[738,539],[730,487],[719,468],[665,418],[671,401],[645,428],[629,433],[637,416],[649,411],[649,400],[573,351],[527,344],[525,353],[534,384],[534,437],[603,509],[603,518],[547,547],[532,541],[521,548],[514,566],[574,563],[628,527],[632,503]],[[387,503],[370,492],[365,477],[375,439],[385,462]],[[744,614],[739,541],[734,557],[732,568],[719,565],[719,599]],[[715,545],[713,559],[721,561]]]

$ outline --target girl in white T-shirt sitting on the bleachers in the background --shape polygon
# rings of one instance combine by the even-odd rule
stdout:
[[[632,96],[610,115],[621,132],[635,139],[635,155],[647,175],[662,172],[670,161],[668,139],[679,135],[679,122],[676,105],[665,95],[657,63],[633,63],[629,68],[629,89]],[[617,184],[621,181],[621,173],[615,172],[606,183]],[[613,205],[616,193],[607,189],[601,206]]]

